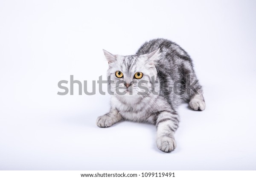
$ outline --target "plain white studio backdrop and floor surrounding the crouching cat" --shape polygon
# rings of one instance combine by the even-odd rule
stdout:
[[[0,1],[0,170],[255,170],[253,0]],[[57,95],[106,79],[102,49],[132,55],[167,38],[194,60],[207,108],[179,108],[172,153],[156,129],[96,126],[109,95]],[[98,89],[98,87],[97,87]],[[107,87],[104,86],[106,91]]]

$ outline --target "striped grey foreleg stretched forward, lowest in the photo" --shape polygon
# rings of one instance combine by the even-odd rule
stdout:
[[[176,148],[174,133],[179,126],[179,116],[175,111],[161,112],[156,121],[157,147],[163,152],[172,152]]]

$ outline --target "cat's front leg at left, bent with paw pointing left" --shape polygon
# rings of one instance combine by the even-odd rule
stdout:
[[[99,116],[96,120],[96,124],[99,127],[110,127],[113,124],[116,124],[116,122],[120,121],[121,118],[122,117],[119,112],[115,108],[112,108],[110,112]]]

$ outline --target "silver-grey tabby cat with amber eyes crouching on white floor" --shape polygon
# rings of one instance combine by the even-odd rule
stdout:
[[[203,111],[206,107],[188,53],[162,38],[145,42],[135,55],[103,52],[113,95],[110,112],[97,118],[97,126],[110,127],[121,119],[154,124],[157,147],[172,152],[180,121],[177,107],[184,102],[193,110]]]

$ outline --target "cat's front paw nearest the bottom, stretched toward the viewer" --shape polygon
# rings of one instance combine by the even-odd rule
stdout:
[[[176,148],[176,141],[167,136],[159,137],[157,138],[157,147],[163,152],[172,152]]]

